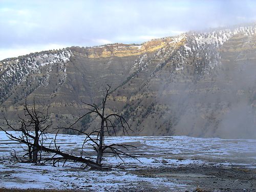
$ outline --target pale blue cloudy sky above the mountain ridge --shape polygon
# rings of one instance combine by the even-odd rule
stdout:
[[[0,60],[255,21],[254,0],[0,0]]]

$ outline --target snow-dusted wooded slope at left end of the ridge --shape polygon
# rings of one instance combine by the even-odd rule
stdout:
[[[0,72],[0,93],[1,99],[4,97],[14,86],[20,82],[26,81],[29,74],[40,74],[42,67],[47,67],[45,76],[38,79],[37,86],[40,86],[47,80],[47,75],[51,73],[51,67],[59,64],[62,71],[62,81],[66,77],[65,63],[69,61],[72,52],[70,50],[56,51],[55,53],[37,53],[28,56],[18,57],[14,59],[5,59],[1,61],[2,67]],[[30,86],[28,84],[28,86]]]

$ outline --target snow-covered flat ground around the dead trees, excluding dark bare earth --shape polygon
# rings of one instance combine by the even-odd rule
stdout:
[[[12,132],[13,134],[17,134]],[[54,138],[55,135],[50,135]],[[84,136],[57,136],[57,144],[63,152],[79,154]],[[50,142],[50,140],[48,141]],[[184,191],[189,184],[180,182],[177,177],[151,177],[135,174],[143,168],[193,167],[211,165],[226,167],[256,168],[256,140],[193,138],[187,136],[163,137],[106,137],[105,143],[126,143],[135,145],[130,154],[138,156],[142,162],[124,158],[121,160],[106,157],[103,164],[111,170],[96,171],[81,169],[81,164],[67,162],[65,167],[33,165],[15,162],[11,157],[13,149],[22,155],[19,143],[11,141],[4,132],[0,132],[0,188],[40,188],[40,189],[79,189],[90,191],[114,191],[159,189]],[[86,150],[93,154],[91,148]],[[92,156],[93,157],[93,156]]]

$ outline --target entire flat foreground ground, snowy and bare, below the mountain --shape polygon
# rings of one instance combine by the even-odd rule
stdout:
[[[63,151],[79,152],[82,136],[60,135]],[[103,172],[13,161],[19,144],[0,133],[0,191],[256,191],[256,140],[192,137],[109,137],[130,143],[140,162],[106,157]],[[90,148],[88,153],[91,154]]]

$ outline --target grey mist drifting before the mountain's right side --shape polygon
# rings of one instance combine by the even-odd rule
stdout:
[[[237,39],[243,39],[243,43]],[[246,45],[248,39],[253,44],[250,37],[242,35],[231,38],[218,50],[207,50],[206,55],[218,51],[220,58],[212,69],[207,69],[209,61],[205,61],[200,75],[191,75],[190,69],[190,65],[201,62],[200,51],[194,64],[189,61],[193,59],[184,56],[188,65],[183,64],[184,70],[173,72],[172,82],[166,81],[159,88],[158,102],[169,104],[166,114],[176,119],[175,135],[256,138],[256,62],[255,50]],[[241,51],[242,46],[247,47]],[[161,96],[163,92],[170,94]]]

